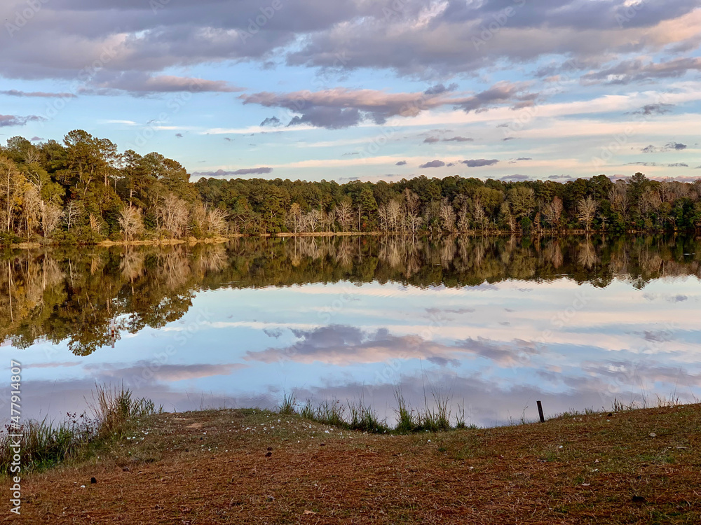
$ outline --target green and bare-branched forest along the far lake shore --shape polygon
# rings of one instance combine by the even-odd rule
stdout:
[[[0,244],[279,232],[632,232],[701,228],[701,179],[199,179],[83,130],[0,146]]]

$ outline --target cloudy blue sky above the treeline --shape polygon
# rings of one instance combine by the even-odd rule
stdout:
[[[701,176],[698,0],[4,0],[0,141],[192,174]]]

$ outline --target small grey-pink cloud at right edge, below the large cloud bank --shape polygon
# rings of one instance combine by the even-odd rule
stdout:
[[[592,71],[582,76],[584,84],[629,84],[660,78],[678,78],[688,71],[701,71],[701,58],[676,58],[668,62],[643,62],[625,60],[601,71]]]

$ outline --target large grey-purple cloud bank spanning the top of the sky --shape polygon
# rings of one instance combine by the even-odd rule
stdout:
[[[9,13],[24,5],[10,4]],[[102,60],[102,69],[118,74],[250,61],[429,79],[553,54],[601,61],[697,44],[697,0],[648,2],[632,18],[627,0],[519,4],[407,0],[396,10],[391,0],[289,0],[284,15],[273,15],[252,34],[250,20],[260,15],[255,0],[206,0],[200,7],[170,2],[157,16],[149,2],[61,0],[42,6],[31,29],[5,39],[0,76],[70,80],[103,55],[109,60]],[[505,15],[507,6],[514,15]],[[496,22],[504,17],[503,25]],[[484,41],[484,28],[494,24],[498,31]],[[451,89],[438,84],[426,91],[431,96]]]

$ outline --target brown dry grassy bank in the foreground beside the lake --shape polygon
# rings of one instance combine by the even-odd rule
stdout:
[[[699,524],[700,450],[701,405],[409,435],[258,410],[161,414],[139,419],[99,459],[22,479],[22,518]]]

